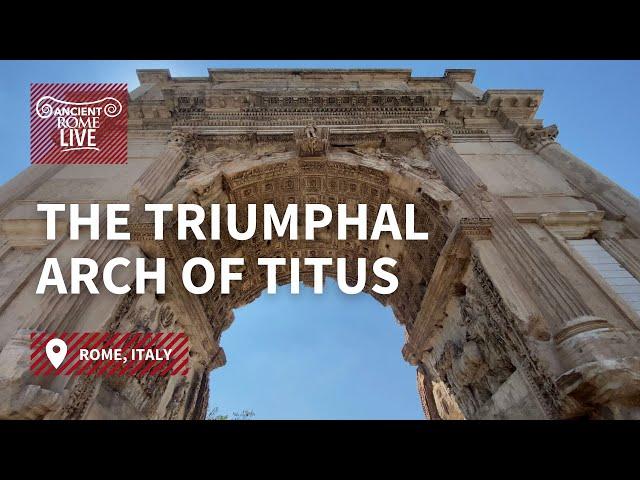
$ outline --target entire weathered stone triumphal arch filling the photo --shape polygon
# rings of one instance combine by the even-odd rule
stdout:
[[[400,287],[367,291],[406,332],[426,417],[640,418],[640,203],[557,143],[542,91],[481,91],[472,70],[138,78],[127,165],[36,165],[0,189],[0,417],[203,418],[233,310],[265,289],[257,257],[390,256]],[[39,202],[129,203],[132,241],[47,241]],[[158,241],[147,203],[413,203],[429,240],[178,240],[168,221]],[[117,255],[165,257],[166,293],[35,294],[47,257]],[[189,294],[194,256],[246,258],[241,288]],[[185,332],[189,373],[33,376],[30,334],[64,330]]]

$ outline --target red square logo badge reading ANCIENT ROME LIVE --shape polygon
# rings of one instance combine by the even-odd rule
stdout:
[[[31,163],[127,163],[126,83],[32,83]]]

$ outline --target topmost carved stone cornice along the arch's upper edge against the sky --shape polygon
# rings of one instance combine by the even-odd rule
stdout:
[[[422,123],[439,117],[493,118],[500,112],[521,120],[534,117],[541,90],[487,90],[482,97],[456,98],[458,85],[471,84],[474,76],[473,70],[423,78],[409,70],[251,69],[173,78],[168,70],[142,70],[138,77],[144,88],[131,99],[130,114],[147,126],[161,120],[273,124],[305,116],[311,118],[298,123],[358,124],[372,116]]]

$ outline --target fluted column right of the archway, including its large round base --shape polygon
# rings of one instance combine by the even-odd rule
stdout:
[[[547,368],[564,399],[560,417],[597,411],[605,417],[636,418],[638,412],[627,406],[640,394],[640,332],[615,328],[593,314],[504,200],[489,192],[451,147],[450,137],[447,129],[424,130],[429,159],[473,216],[491,219],[491,241],[504,267],[519,280],[549,329],[558,363]]]

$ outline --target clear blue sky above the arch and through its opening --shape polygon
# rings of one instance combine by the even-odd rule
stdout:
[[[538,118],[558,140],[635,195],[640,62],[635,61],[0,61],[0,183],[29,165],[31,82],[127,82],[136,68],[205,76],[207,68],[407,68],[440,76],[475,68],[481,89],[544,89]],[[367,295],[347,296],[330,281],[322,296],[284,288],[236,312],[214,371],[211,404],[256,418],[421,418],[415,371],[400,354],[401,328]]]

